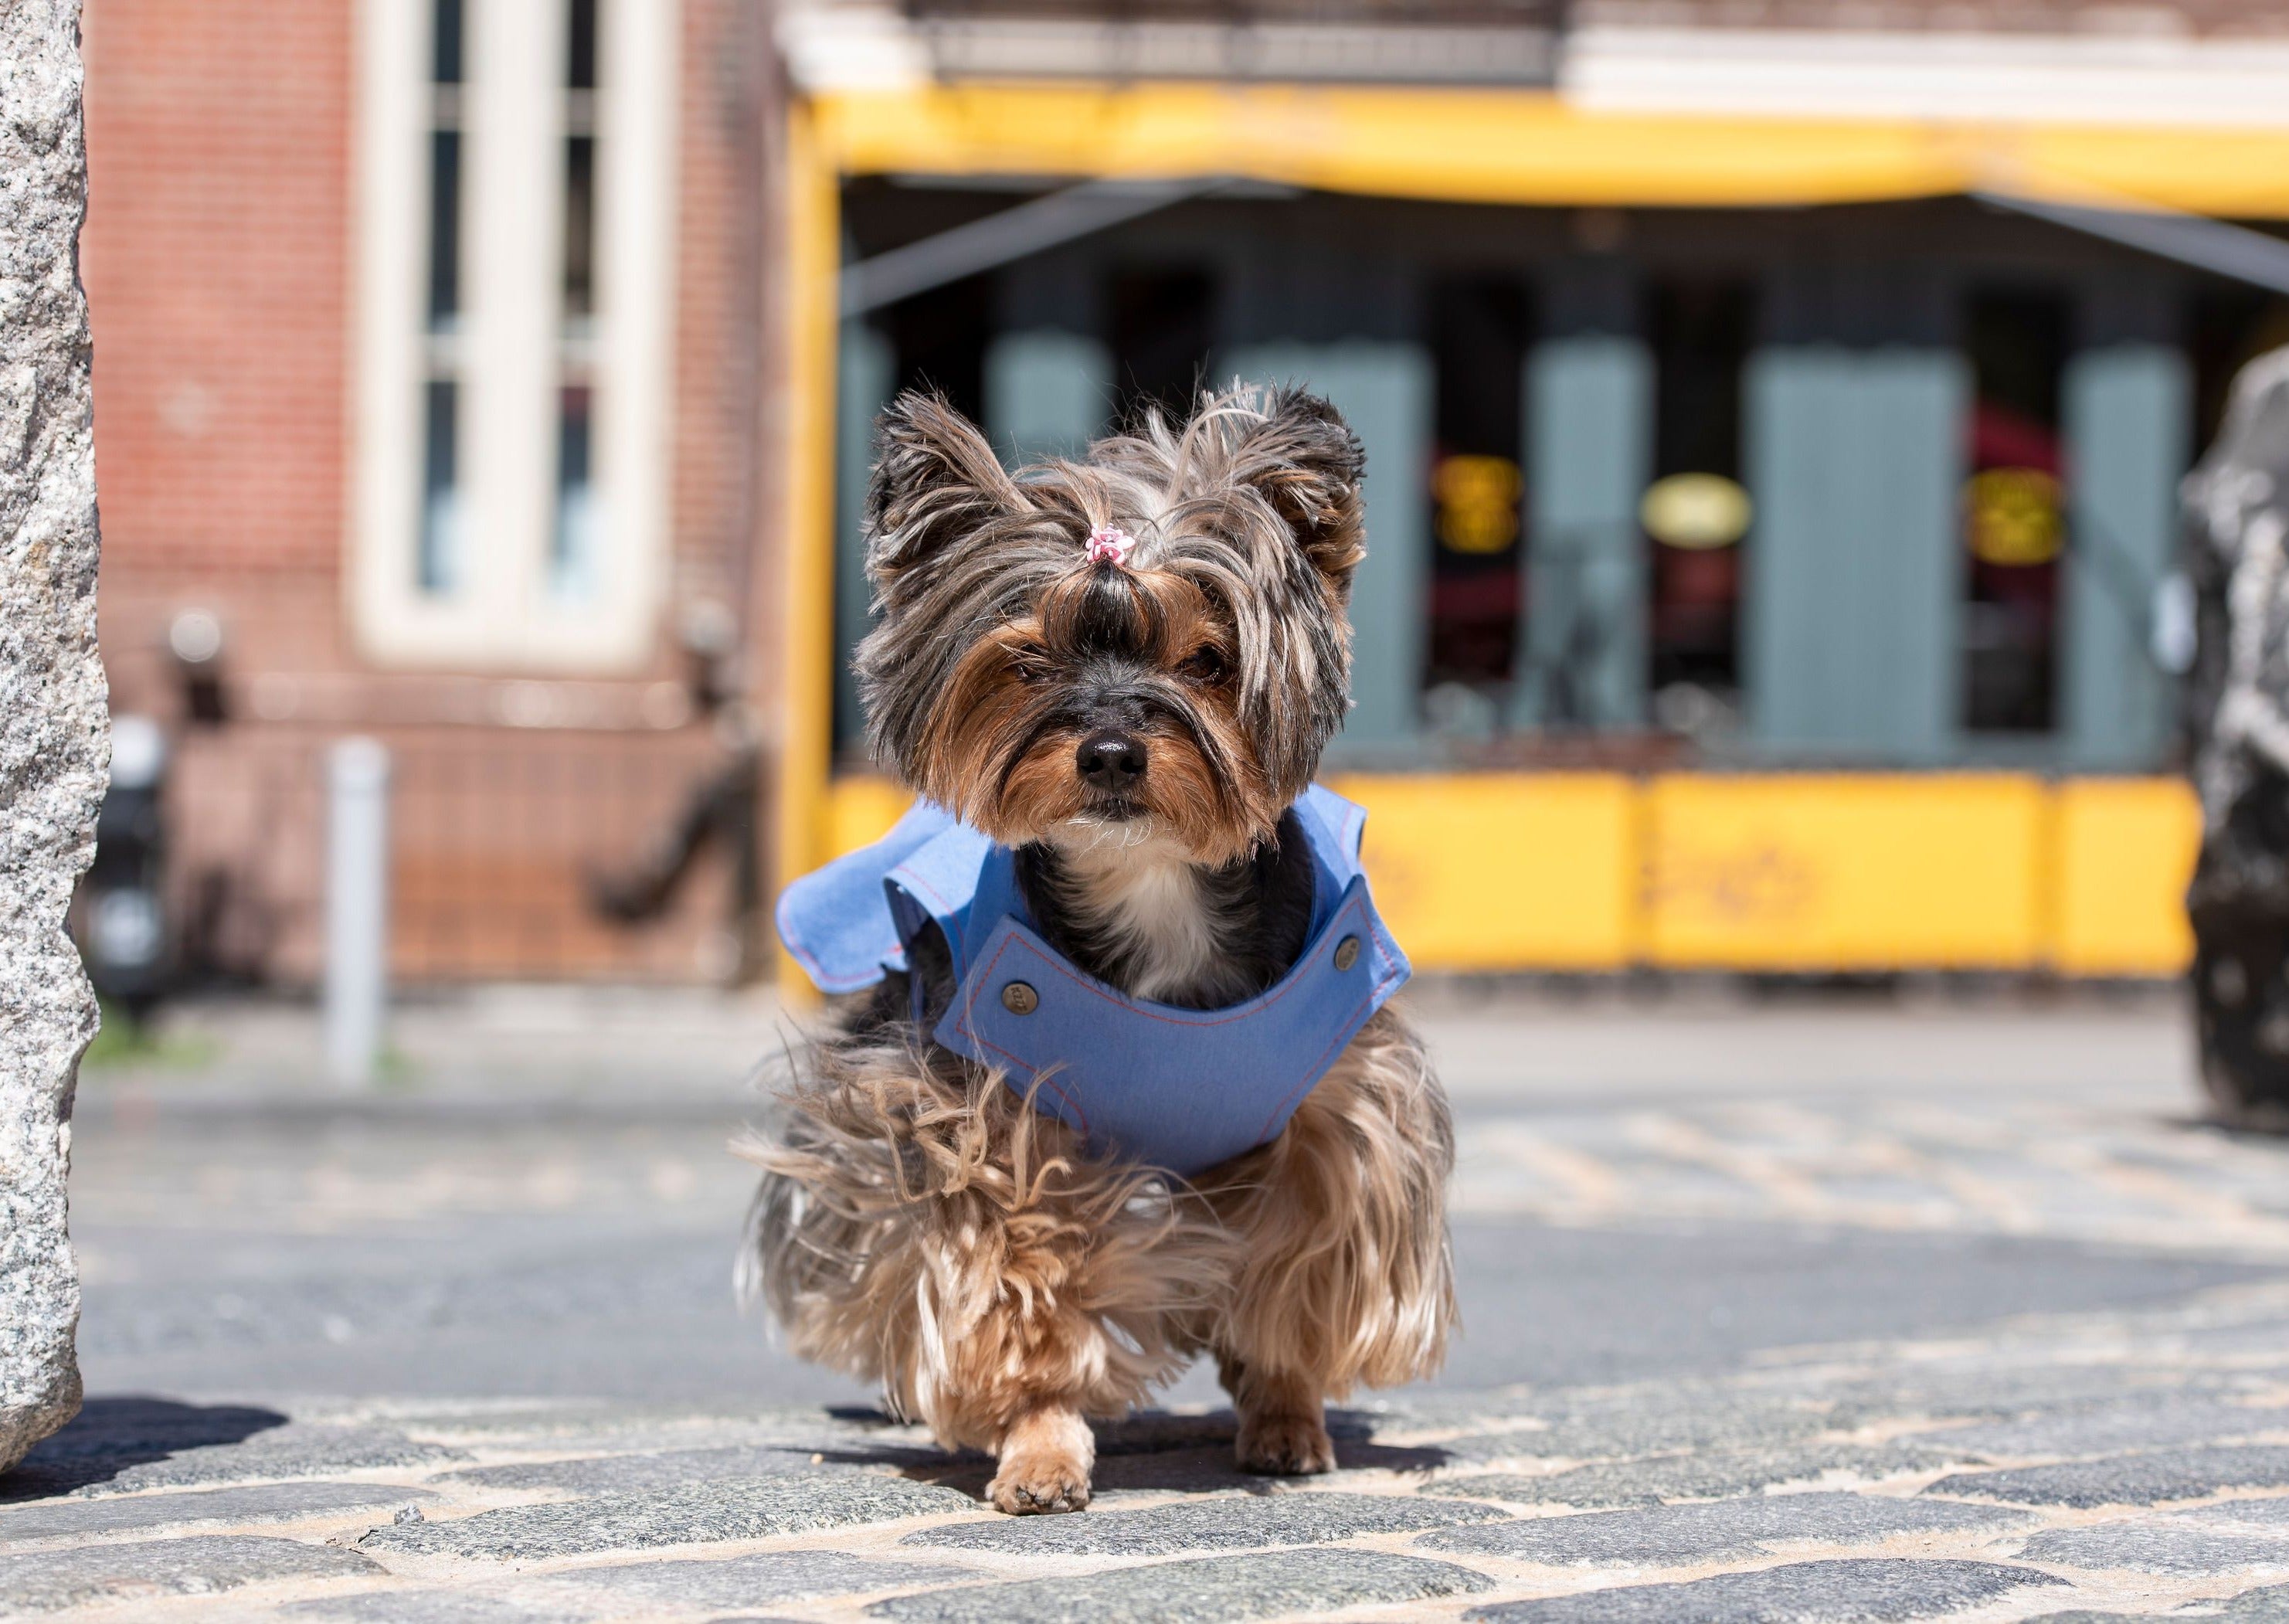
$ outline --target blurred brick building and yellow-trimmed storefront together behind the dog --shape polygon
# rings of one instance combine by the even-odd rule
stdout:
[[[1369,449],[1330,770],[1444,969],[2172,973],[2175,490],[2289,7],[89,0],[105,657],[188,976],[769,967],[865,838],[868,426]],[[2213,220],[2236,222],[2234,231]],[[758,861],[762,868],[758,870]]]

